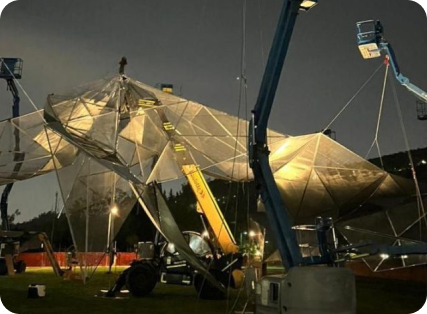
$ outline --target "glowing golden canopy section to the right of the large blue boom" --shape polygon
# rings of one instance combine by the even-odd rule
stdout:
[[[271,152],[282,198],[296,224],[342,217],[366,202],[415,194],[410,180],[387,173],[322,133],[290,137]]]

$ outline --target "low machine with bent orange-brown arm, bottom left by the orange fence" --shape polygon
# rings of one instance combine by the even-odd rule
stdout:
[[[56,276],[62,277],[64,270],[55,258],[52,245],[44,232],[0,231],[0,275],[23,273],[26,264],[18,259],[18,254],[32,248],[31,242],[36,240],[37,247],[43,247]]]

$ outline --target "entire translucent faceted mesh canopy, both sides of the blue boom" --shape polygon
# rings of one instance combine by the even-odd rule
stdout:
[[[237,117],[113,76],[66,95],[51,94],[43,111],[1,122],[0,182],[56,169],[80,252],[105,250],[137,201],[168,239],[177,226],[167,209],[159,209],[161,193],[147,194],[148,186],[178,180],[183,166],[192,164],[213,178],[252,180],[247,128],[248,122]],[[14,158],[15,129],[22,132],[22,161]],[[271,167],[295,224],[312,223],[319,215],[342,219],[362,204],[415,193],[409,181],[322,133],[290,137],[270,130],[268,143]],[[413,217],[405,219],[410,224]],[[196,269],[201,267],[184,243],[180,250]]]

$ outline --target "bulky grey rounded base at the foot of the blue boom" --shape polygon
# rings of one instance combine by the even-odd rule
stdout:
[[[356,314],[356,284],[348,268],[293,267],[258,283],[257,314]]]

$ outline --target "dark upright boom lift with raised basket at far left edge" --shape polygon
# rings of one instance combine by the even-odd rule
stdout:
[[[15,79],[21,79],[22,77],[22,67],[23,61],[20,58],[0,58],[0,78],[5,79],[7,82],[7,88],[12,93],[13,97],[13,106],[12,106],[12,118],[19,117],[19,93],[16,88]],[[18,125],[19,126],[19,125]],[[13,168],[13,172],[17,173],[22,167],[22,161],[24,160],[25,154],[20,152],[19,143],[20,136],[19,130],[16,127],[14,131],[15,137],[15,148],[14,148],[14,156],[13,161],[15,162],[15,166]],[[9,221],[8,221],[8,197],[13,187],[13,182],[7,184],[1,195],[0,201],[0,212],[1,212],[1,229],[2,230],[10,230]]]

